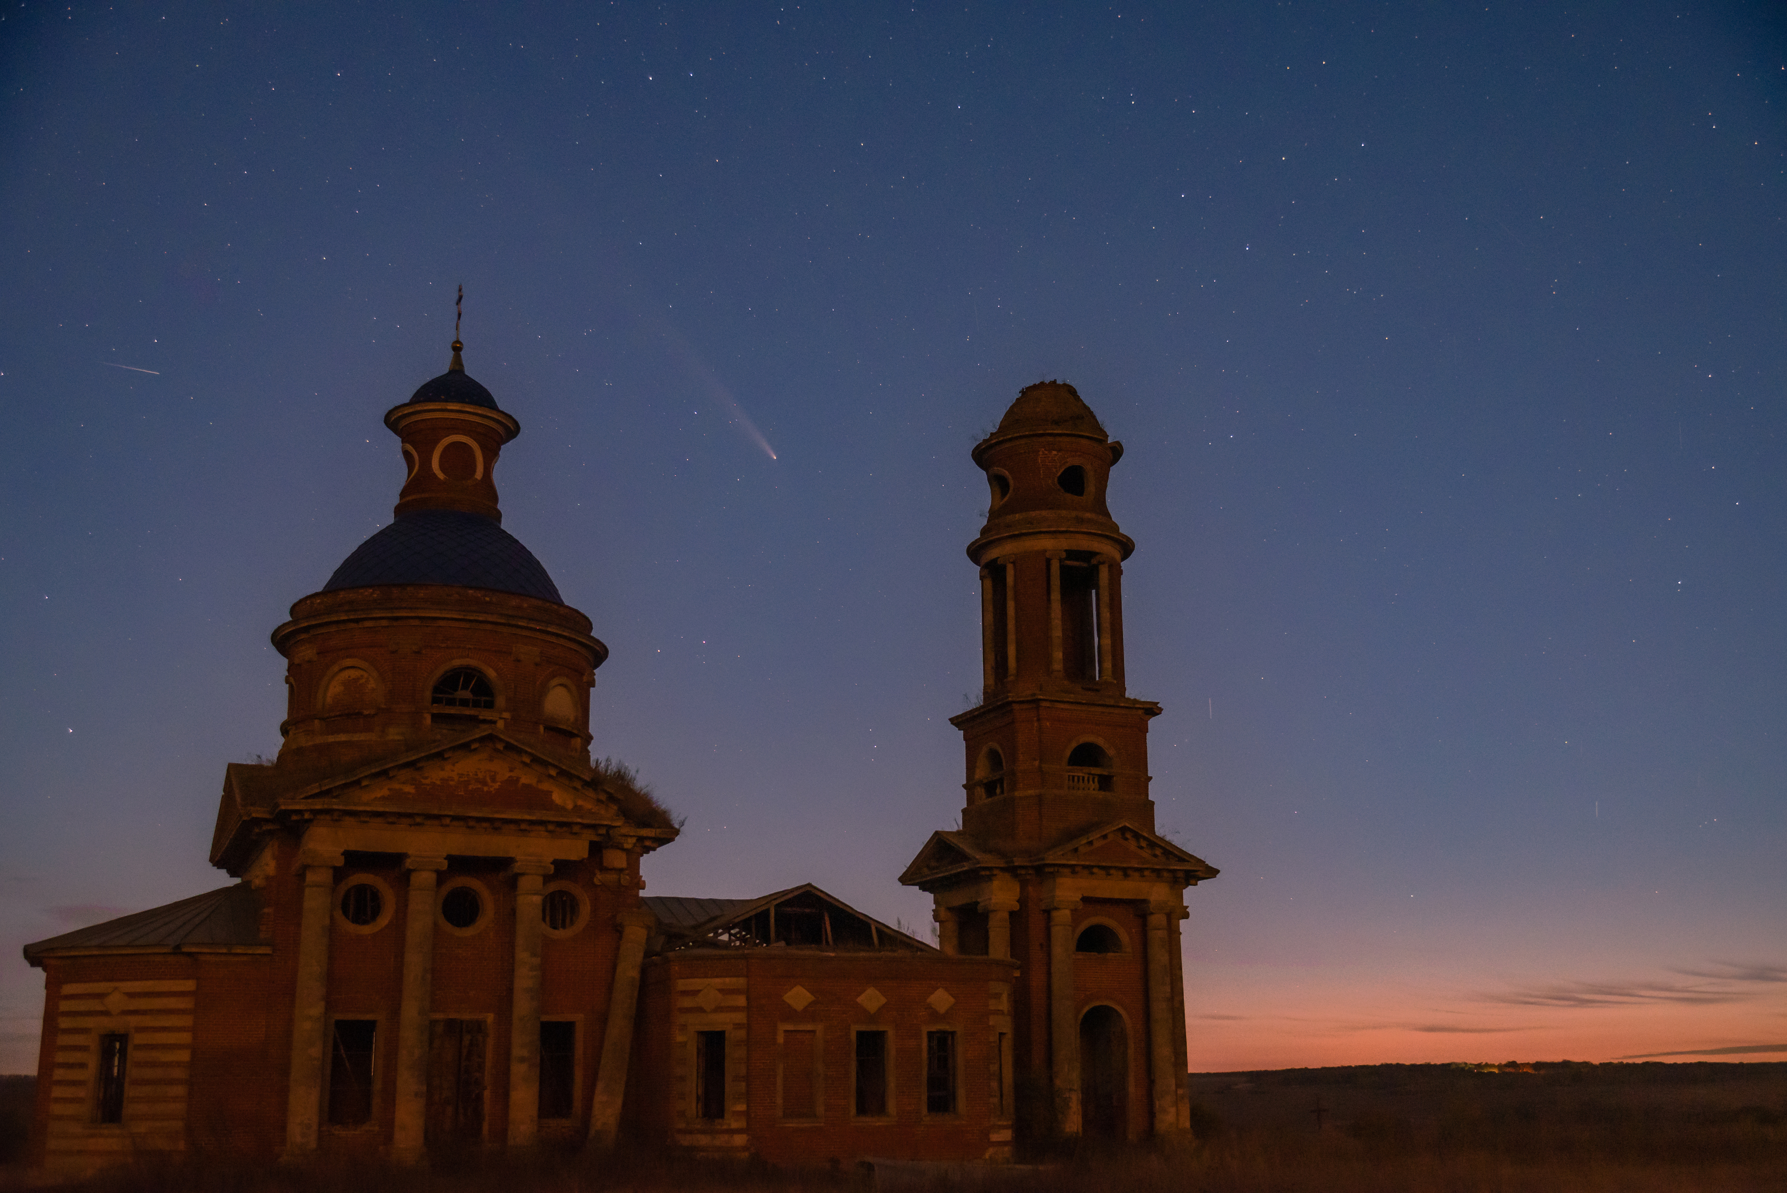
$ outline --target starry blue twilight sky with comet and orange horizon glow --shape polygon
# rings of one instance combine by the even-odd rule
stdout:
[[[1787,1053],[1778,7],[0,16],[0,1071],[20,944],[229,882],[461,283],[652,894],[929,930],[969,449],[1060,377],[1194,1070]]]

